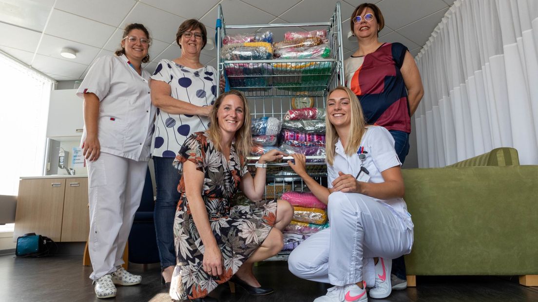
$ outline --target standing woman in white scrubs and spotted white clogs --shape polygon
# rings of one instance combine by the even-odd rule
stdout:
[[[141,67],[149,61],[150,42],[144,25],[125,27],[122,48],[97,59],[77,91],[84,99],[81,145],[88,161],[90,279],[97,298],[116,296],[115,284],[141,281],[121,265],[150,159],[155,107],[150,74]]]

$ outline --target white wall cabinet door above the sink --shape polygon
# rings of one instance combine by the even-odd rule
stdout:
[[[84,127],[82,99],[76,89],[53,90],[48,106],[47,137],[81,136]]]

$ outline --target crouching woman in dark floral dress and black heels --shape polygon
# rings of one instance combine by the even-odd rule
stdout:
[[[189,136],[174,161],[183,177],[174,220],[177,263],[170,295],[216,301],[207,294],[227,281],[249,294],[272,293],[260,286],[252,264],[282,249],[281,231],[291,221],[293,208],[285,200],[261,200],[266,169],[257,167],[254,177],[247,171],[252,142],[243,94],[231,90],[221,95],[210,119],[209,130]],[[259,166],[284,155],[272,150],[260,157]],[[251,200],[248,205],[230,205],[238,189]]]

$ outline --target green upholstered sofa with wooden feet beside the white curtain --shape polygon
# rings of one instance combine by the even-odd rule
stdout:
[[[538,286],[538,166],[498,148],[445,168],[404,169],[415,224],[409,286],[421,275],[520,275]]]

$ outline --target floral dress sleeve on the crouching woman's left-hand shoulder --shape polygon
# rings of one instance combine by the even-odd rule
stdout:
[[[186,161],[193,162],[196,170],[206,173],[206,164],[204,163],[206,150],[204,149],[202,136],[199,133],[193,133],[183,142],[178,155],[172,163],[174,168],[178,169],[181,174],[183,173],[183,163]]]

